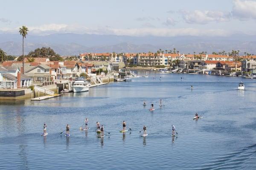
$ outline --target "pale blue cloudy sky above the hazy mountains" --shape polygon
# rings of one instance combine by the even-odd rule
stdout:
[[[1,0],[0,33],[256,35],[256,0]]]

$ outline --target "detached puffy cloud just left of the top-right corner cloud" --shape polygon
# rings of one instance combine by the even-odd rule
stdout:
[[[222,11],[185,11],[180,10],[183,19],[190,24],[207,24],[209,22],[225,22],[230,21],[232,15],[230,12]]]

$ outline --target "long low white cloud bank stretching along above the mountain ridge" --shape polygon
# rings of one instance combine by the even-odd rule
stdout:
[[[147,24],[146,24],[147,25]],[[157,36],[157,37],[175,37],[175,36],[228,36],[231,33],[222,29],[197,29],[197,28],[152,28],[150,25],[145,28],[110,28],[98,27],[88,28],[79,25],[67,24],[48,24],[42,26],[27,26],[28,34],[47,35],[54,33],[76,33],[76,34],[113,34],[127,36]],[[18,34],[18,28],[0,28],[0,32]]]

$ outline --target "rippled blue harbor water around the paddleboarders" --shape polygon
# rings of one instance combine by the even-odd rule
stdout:
[[[40,102],[1,101],[0,169],[256,169],[256,79],[148,74]],[[245,91],[236,90],[241,81]],[[192,120],[195,112],[203,119]],[[91,129],[79,131],[86,117]],[[96,137],[97,121],[110,135]],[[60,135],[67,123],[70,137]]]

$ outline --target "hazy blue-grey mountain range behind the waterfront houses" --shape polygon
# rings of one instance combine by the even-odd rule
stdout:
[[[0,48],[7,54],[22,54],[22,38],[20,34],[0,34]],[[181,53],[207,51],[231,51],[239,49],[256,54],[256,36],[236,34],[230,37],[131,37],[96,34],[50,34],[46,36],[28,35],[24,51],[27,54],[35,48],[51,47],[61,55],[78,55],[83,52],[154,52],[159,48]]]

